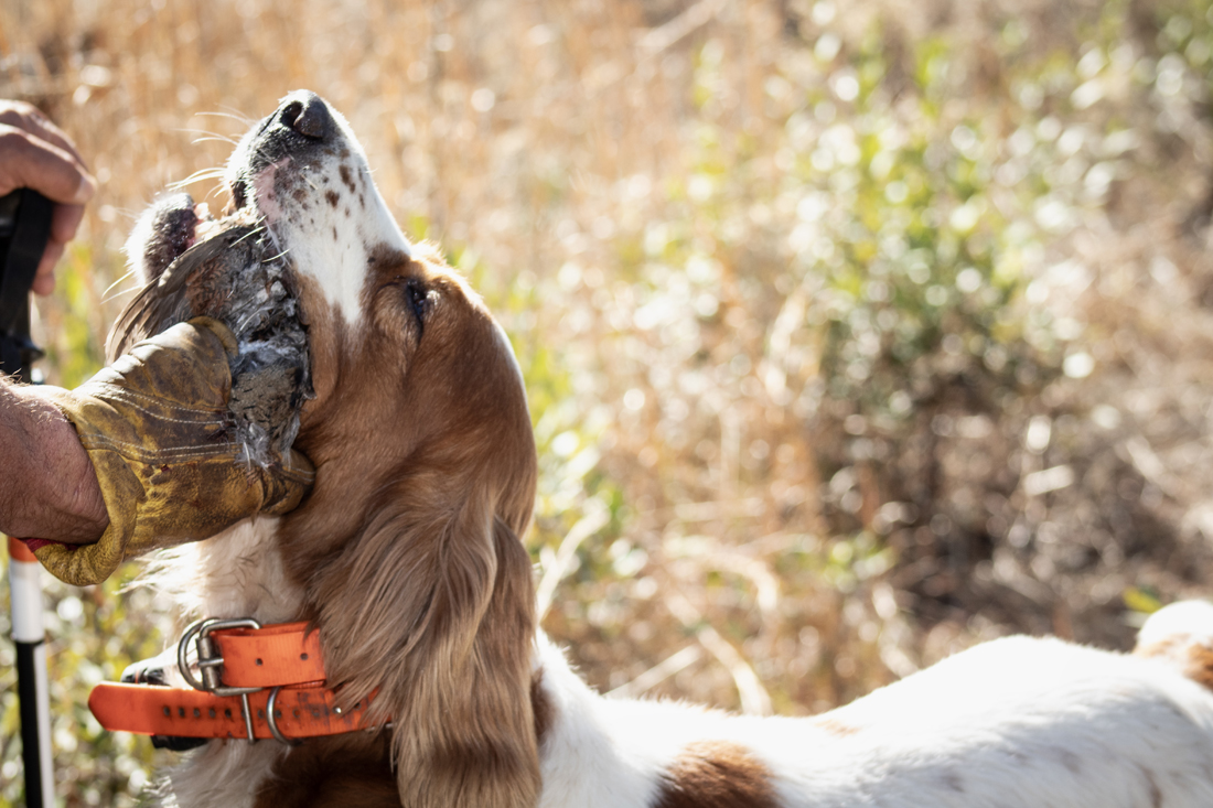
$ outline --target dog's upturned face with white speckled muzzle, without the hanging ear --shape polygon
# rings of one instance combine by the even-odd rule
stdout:
[[[523,531],[534,439],[509,341],[437,250],[402,234],[341,115],[314,93],[287,96],[237,147],[227,177],[228,216],[254,211],[300,290],[315,397],[295,445],[324,477],[300,516],[331,519],[340,545],[361,502],[433,473],[459,501],[491,496]]]

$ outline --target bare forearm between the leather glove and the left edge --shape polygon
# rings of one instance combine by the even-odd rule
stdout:
[[[0,379],[0,531],[89,544],[107,524],[101,488],[75,428],[38,387]]]

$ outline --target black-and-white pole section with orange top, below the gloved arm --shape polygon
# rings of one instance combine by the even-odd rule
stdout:
[[[51,700],[46,676],[46,628],[42,624],[41,565],[24,542],[8,539],[8,592],[12,639],[17,647],[17,690],[21,700],[25,806],[53,808]]]

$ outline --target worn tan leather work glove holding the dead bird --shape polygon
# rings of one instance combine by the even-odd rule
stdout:
[[[98,584],[141,553],[298,505],[315,477],[303,455],[292,450],[270,468],[239,460],[227,409],[235,351],[227,326],[200,317],[139,342],[80,387],[47,397],[80,434],[109,513],[96,544],[34,550],[56,577]]]

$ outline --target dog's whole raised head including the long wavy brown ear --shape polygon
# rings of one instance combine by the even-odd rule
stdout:
[[[220,220],[176,203],[152,228],[172,238],[139,250],[163,264],[239,222],[264,226],[267,257],[290,266],[314,389],[295,448],[317,478],[279,542],[330,681],[351,702],[374,692],[393,721],[405,804],[533,801],[519,536],[536,461],[509,342],[435,250],[405,239],[348,125],[314,93],[257,123],[226,181]]]

